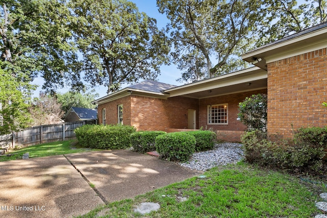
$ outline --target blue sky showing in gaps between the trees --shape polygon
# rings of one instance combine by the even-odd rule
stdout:
[[[166,27],[168,19],[166,15],[160,14],[156,6],[155,0],[130,0],[135,3],[140,12],[145,12],[149,17],[155,18],[157,20],[157,27],[159,29]],[[176,80],[181,77],[181,72],[176,68],[175,65],[162,65],[160,67],[161,75],[157,77],[159,82],[173,84],[173,85],[182,85],[183,83],[178,83]],[[140,80],[142,81],[142,80]],[[41,86],[43,85],[44,80],[40,77],[36,78],[33,84],[38,85],[39,87],[34,92],[35,97],[39,95],[39,92],[42,90]],[[85,82],[86,84],[86,82]],[[123,84],[122,88],[128,86],[129,84]],[[58,89],[57,92],[65,93],[69,90],[69,87]],[[99,93],[100,97],[107,95],[107,87],[97,86],[95,87],[96,92]]]

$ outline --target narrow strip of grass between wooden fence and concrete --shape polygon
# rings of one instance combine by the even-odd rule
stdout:
[[[36,144],[26,148],[15,148],[7,154],[11,156],[0,156],[0,161],[22,159],[22,155],[29,153],[29,158],[45,157],[62,154],[80,153],[86,151],[97,151],[96,149],[82,148],[77,144],[77,140],[56,141],[51,143]]]

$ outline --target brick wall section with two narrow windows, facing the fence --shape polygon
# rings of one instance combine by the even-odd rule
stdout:
[[[99,124],[102,124],[102,108],[106,108],[106,124],[117,124],[118,105],[123,105],[123,124],[131,125],[131,98],[125,96],[121,99],[107,102],[98,106]]]

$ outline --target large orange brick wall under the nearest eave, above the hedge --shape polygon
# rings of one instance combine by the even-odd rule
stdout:
[[[326,49],[268,63],[268,133],[326,126]]]

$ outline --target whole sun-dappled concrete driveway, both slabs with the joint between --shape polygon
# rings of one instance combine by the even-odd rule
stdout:
[[[0,162],[0,217],[72,217],[200,174],[128,150]]]

